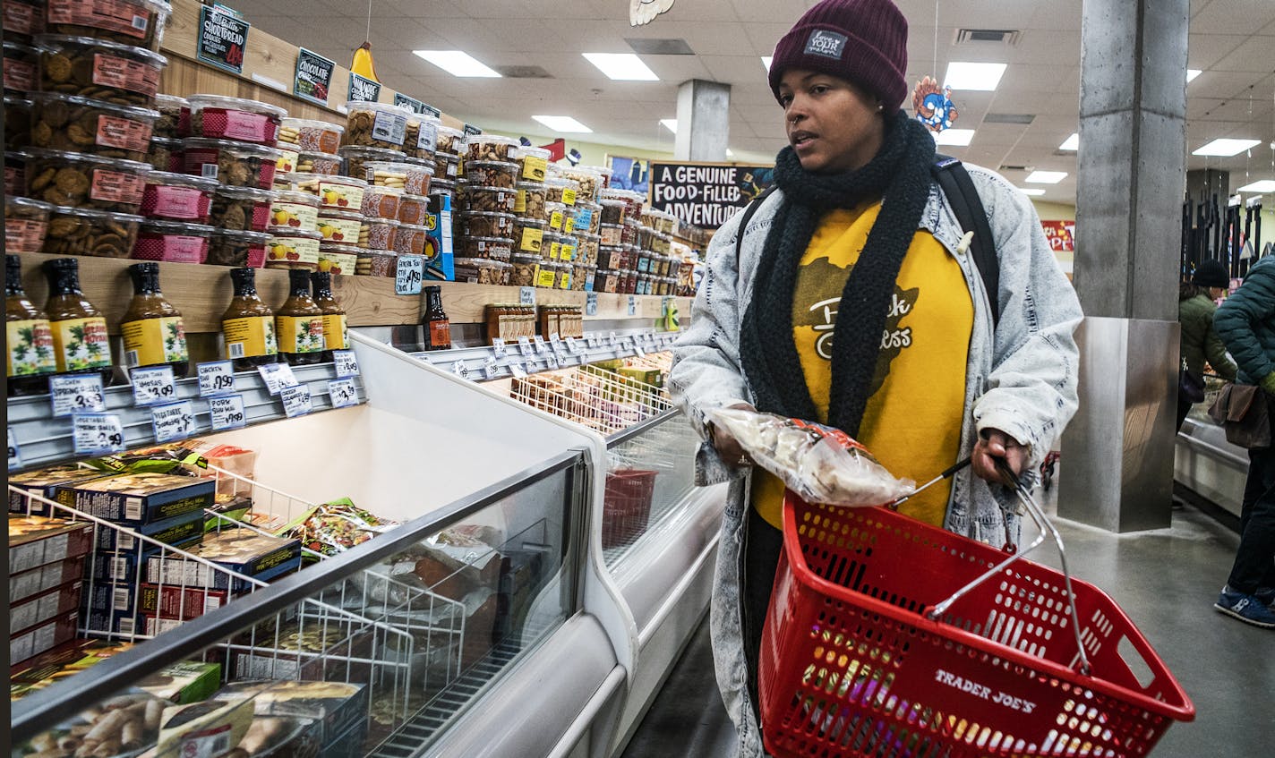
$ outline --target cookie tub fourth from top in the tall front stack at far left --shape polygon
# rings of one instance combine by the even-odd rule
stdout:
[[[54,205],[136,213],[150,166],[60,150],[27,150],[26,196]],[[125,256],[126,257],[126,256]]]

